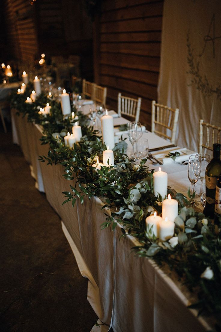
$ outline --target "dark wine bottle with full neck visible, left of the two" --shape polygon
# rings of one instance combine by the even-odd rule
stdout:
[[[206,167],[206,206],[203,213],[206,217],[214,218],[216,182],[221,175],[220,144],[213,144],[213,158]]]

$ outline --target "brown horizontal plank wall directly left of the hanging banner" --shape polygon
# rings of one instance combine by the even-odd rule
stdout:
[[[151,100],[157,100],[162,12],[163,0],[103,0],[96,24],[94,76],[107,87],[107,103],[116,110],[118,92],[142,97],[140,121],[149,129]]]

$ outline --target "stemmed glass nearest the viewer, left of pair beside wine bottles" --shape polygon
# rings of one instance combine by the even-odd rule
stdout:
[[[200,177],[200,172],[201,172],[201,161],[199,158],[196,157],[195,154],[192,154],[188,161],[188,178],[192,186],[191,196],[193,195],[194,192],[195,183],[198,181]],[[196,207],[198,203],[195,202],[193,198],[191,198],[190,205]]]

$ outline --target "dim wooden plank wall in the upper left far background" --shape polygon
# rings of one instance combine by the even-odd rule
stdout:
[[[10,58],[33,61],[37,51],[34,6],[24,0],[3,0]]]

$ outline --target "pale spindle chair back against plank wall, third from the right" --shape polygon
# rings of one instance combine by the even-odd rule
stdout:
[[[134,121],[139,121],[141,98],[135,99],[118,94],[118,115],[126,115]]]

